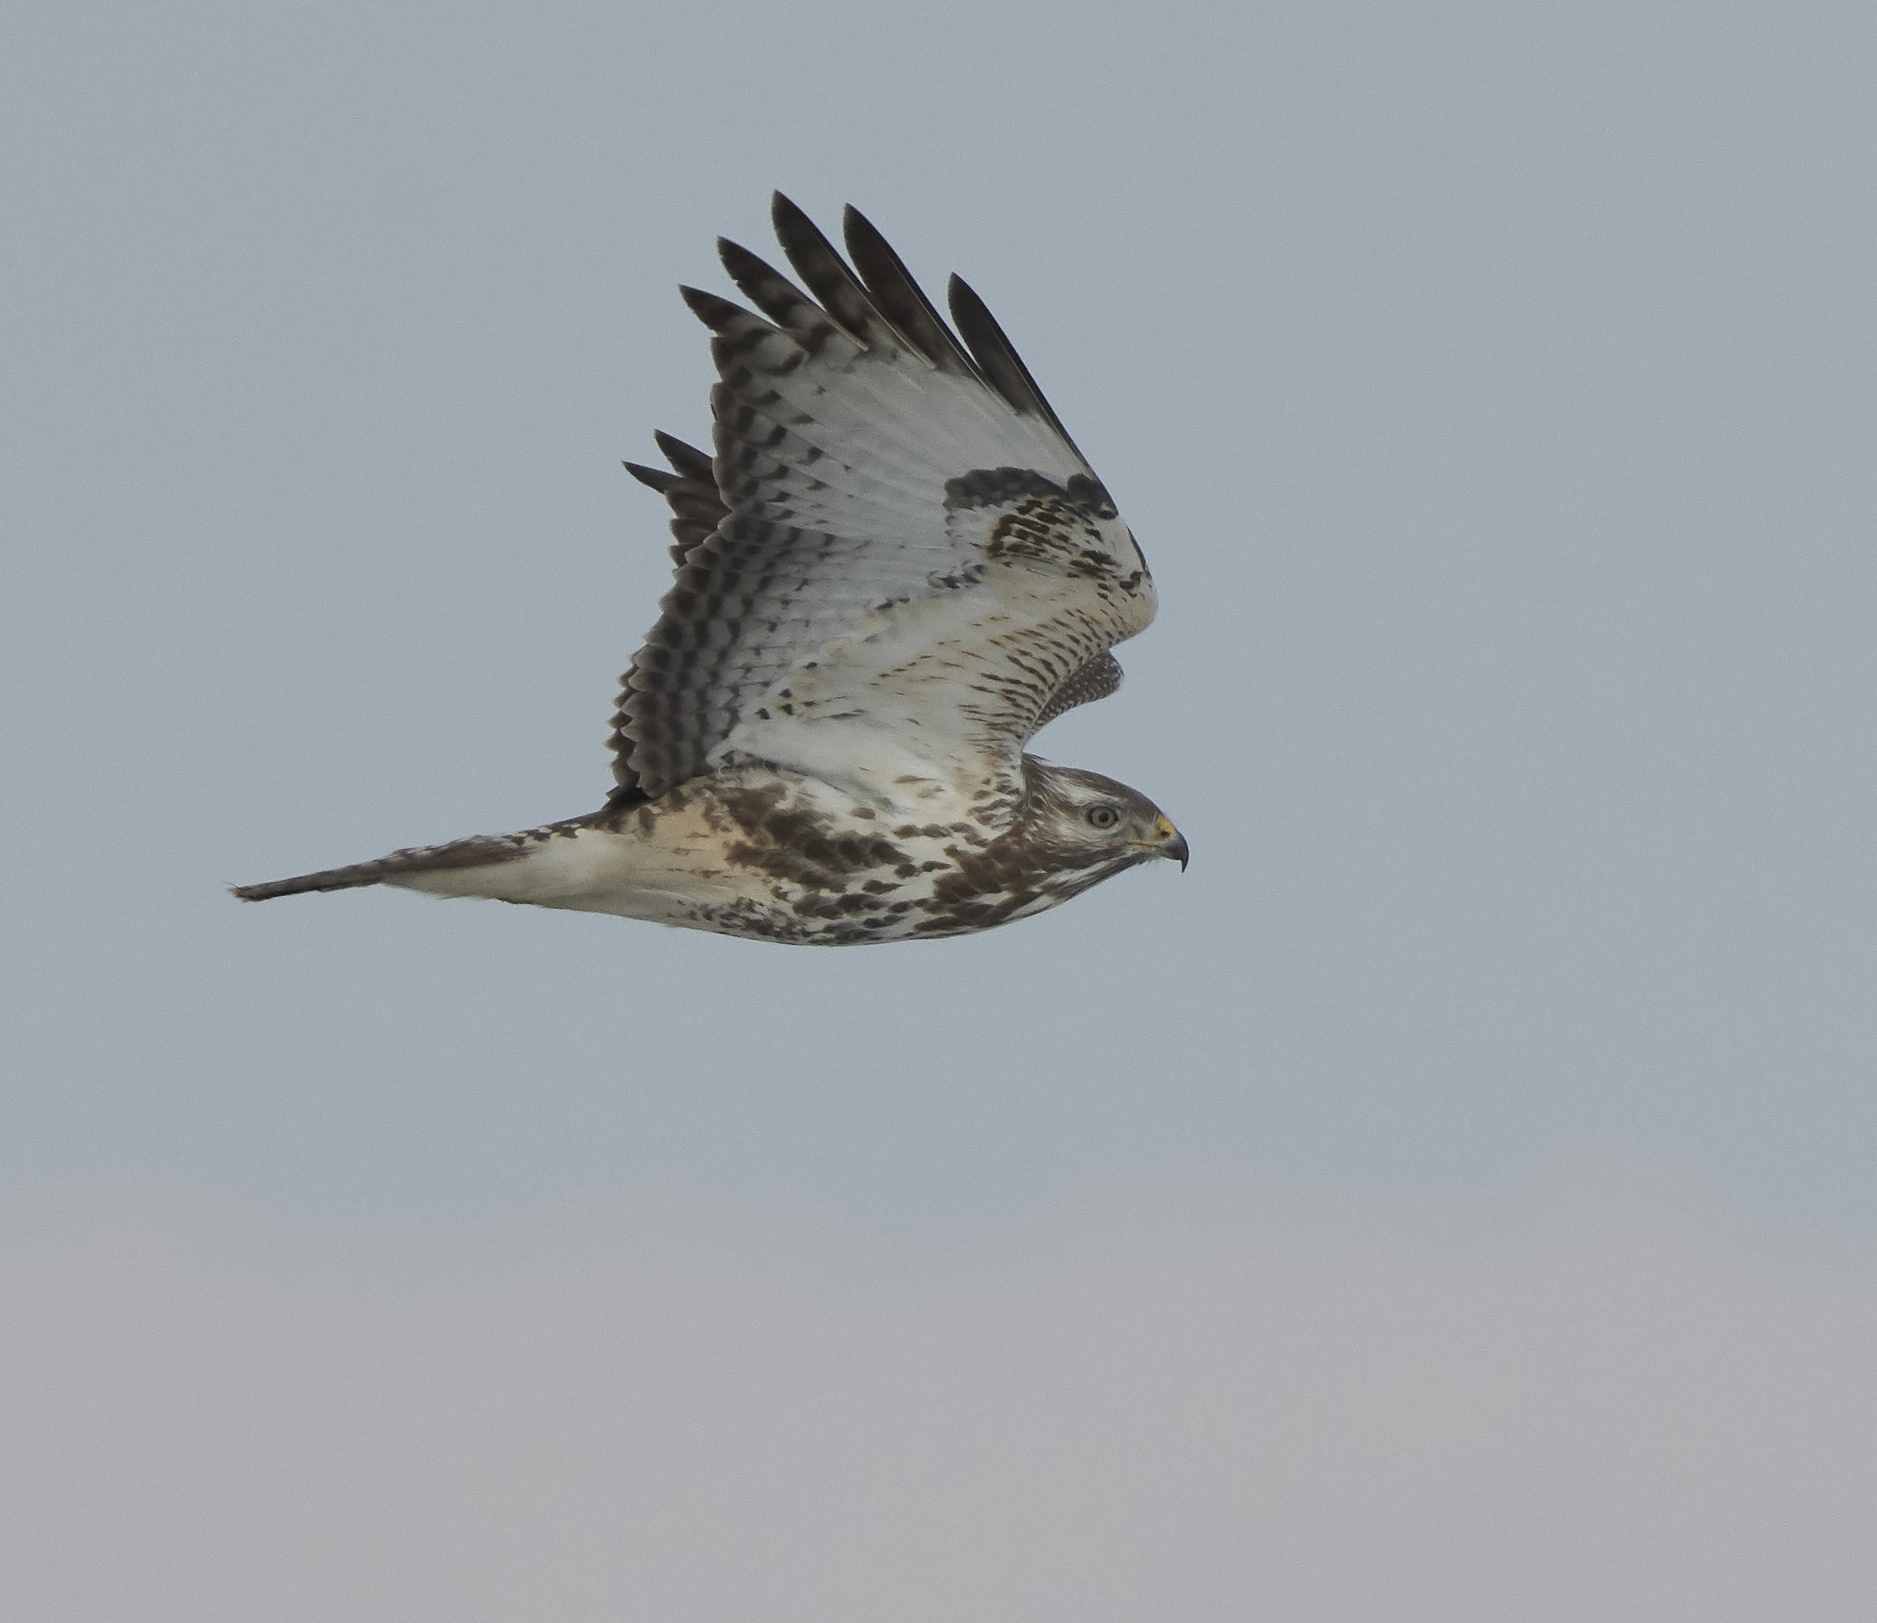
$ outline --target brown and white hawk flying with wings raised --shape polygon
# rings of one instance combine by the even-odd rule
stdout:
[[[1023,752],[1154,617],[1134,535],[978,295],[952,280],[954,332],[845,225],[848,259],[777,195],[801,287],[721,242],[762,313],[683,291],[713,445],[627,463],[670,503],[678,578],[621,679],[606,805],[237,897],[387,884],[845,946],[1186,865],[1145,796]]]

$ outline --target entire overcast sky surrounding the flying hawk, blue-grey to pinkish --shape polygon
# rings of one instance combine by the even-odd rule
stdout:
[[[19,4],[34,1619],[1864,1619],[1877,21]],[[604,794],[781,186],[985,296],[1194,848],[798,951],[221,886]]]

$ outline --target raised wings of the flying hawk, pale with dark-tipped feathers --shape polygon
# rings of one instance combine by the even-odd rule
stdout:
[[[884,238],[845,225],[854,268],[775,197],[813,298],[719,244],[768,319],[685,289],[715,334],[713,484],[663,437],[674,473],[633,469],[672,501],[679,567],[623,677],[625,797],[738,758],[1010,781],[1038,726],[1113,692],[1107,649],[1152,619],[1134,537],[978,296],[952,280],[961,343]]]

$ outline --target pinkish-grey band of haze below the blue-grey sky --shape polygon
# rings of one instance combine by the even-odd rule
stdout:
[[[1871,1257],[1582,1167],[1406,1221],[1107,1188],[952,1246],[616,1197],[306,1248],[94,1199],[0,1257],[21,1617],[1860,1623],[1873,1593]]]

